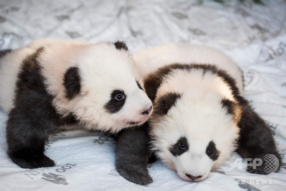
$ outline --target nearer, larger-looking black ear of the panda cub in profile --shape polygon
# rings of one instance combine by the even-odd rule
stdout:
[[[80,81],[80,69],[78,67],[70,67],[65,71],[63,86],[65,87],[65,97],[67,99],[71,100],[80,93]]]

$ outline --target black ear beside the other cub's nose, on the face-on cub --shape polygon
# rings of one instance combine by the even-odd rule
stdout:
[[[159,115],[166,115],[169,109],[175,105],[177,99],[180,99],[181,94],[175,92],[168,92],[162,95],[154,103],[154,113]]]

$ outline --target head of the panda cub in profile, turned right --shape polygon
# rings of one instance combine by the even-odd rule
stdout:
[[[67,60],[61,58],[69,63],[60,76],[61,84],[47,78],[59,113],[74,115],[88,129],[111,132],[148,119],[152,102],[140,85],[140,75],[124,42],[67,45],[67,50]],[[57,74],[53,70],[44,74]]]

